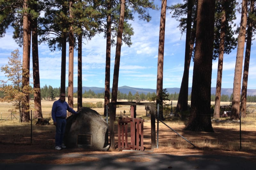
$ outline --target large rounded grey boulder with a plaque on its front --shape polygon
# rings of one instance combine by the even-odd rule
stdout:
[[[98,112],[88,107],[67,118],[64,144],[68,148],[107,150],[108,125]]]

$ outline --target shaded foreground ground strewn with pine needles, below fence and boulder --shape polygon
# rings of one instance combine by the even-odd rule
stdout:
[[[252,169],[255,154],[200,151],[197,149],[155,149],[154,151],[86,151],[42,148],[39,145],[0,144],[1,169]]]

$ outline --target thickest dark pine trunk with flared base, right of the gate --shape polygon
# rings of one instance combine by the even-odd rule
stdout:
[[[184,130],[213,132],[210,111],[214,12],[214,1],[198,0],[191,109]]]

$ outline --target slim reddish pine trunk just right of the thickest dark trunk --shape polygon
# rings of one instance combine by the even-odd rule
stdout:
[[[223,55],[224,55],[224,42],[225,42],[225,25],[226,25],[226,0],[222,1],[222,16],[220,26],[220,47],[219,47],[219,60],[218,60],[218,71],[216,81],[216,92],[215,92],[215,105],[213,117],[220,117],[220,97],[221,97],[221,82],[222,82],[222,68],[223,68]]]

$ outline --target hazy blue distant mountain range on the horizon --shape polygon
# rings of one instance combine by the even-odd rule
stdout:
[[[82,88],[83,93],[85,91],[89,91],[89,90],[91,90],[91,91],[93,91],[95,93],[105,92],[105,88],[100,88],[100,87],[83,87]],[[136,92],[144,93],[144,94],[147,94],[148,92],[150,92],[150,93],[155,92],[156,93],[156,89],[134,88],[134,87],[129,87],[129,86],[118,87],[118,90],[121,93],[126,93],[126,94],[131,92],[133,95]],[[180,93],[180,88],[166,88],[166,90],[170,94],[174,94],[175,92],[176,93]],[[188,94],[191,93],[191,90],[192,90],[192,88],[188,87]],[[77,91],[77,87],[74,87],[74,92],[76,92],[76,91]],[[110,92],[112,92],[112,88],[110,88]],[[215,92],[216,92],[216,87],[212,87],[211,88],[211,94],[215,94]],[[230,96],[232,93],[233,93],[233,89],[232,88],[221,88],[221,95],[225,94],[225,95],[229,95]],[[247,95],[251,95],[251,96],[256,95],[256,89],[247,89]]]

